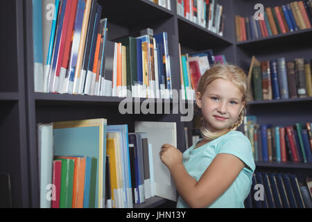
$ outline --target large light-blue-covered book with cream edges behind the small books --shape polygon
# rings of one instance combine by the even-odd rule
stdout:
[[[82,155],[98,159],[96,184],[96,207],[103,208],[105,198],[106,119],[85,119],[53,123],[55,155]],[[95,138],[98,141],[95,141]]]

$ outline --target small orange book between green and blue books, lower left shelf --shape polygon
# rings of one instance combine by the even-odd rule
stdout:
[[[83,208],[83,196],[85,192],[85,157],[58,156],[60,159],[75,160],[73,168],[73,199],[72,208]]]

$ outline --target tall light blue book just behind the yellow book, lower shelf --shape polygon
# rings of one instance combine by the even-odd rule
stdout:
[[[120,133],[121,136],[121,162],[123,173],[123,191],[125,196],[125,207],[132,208],[132,188],[129,156],[128,125],[108,125],[107,133]]]

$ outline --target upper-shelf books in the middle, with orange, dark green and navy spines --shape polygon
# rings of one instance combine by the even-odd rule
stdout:
[[[171,58],[166,32],[154,35],[153,29],[146,28],[114,41],[113,67],[105,65],[107,71],[113,70],[112,94],[108,96],[172,97]]]

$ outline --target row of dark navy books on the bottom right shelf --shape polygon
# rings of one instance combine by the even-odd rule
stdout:
[[[245,199],[246,208],[312,208],[312,178],[298,181],[293,173],[257,171]]]

